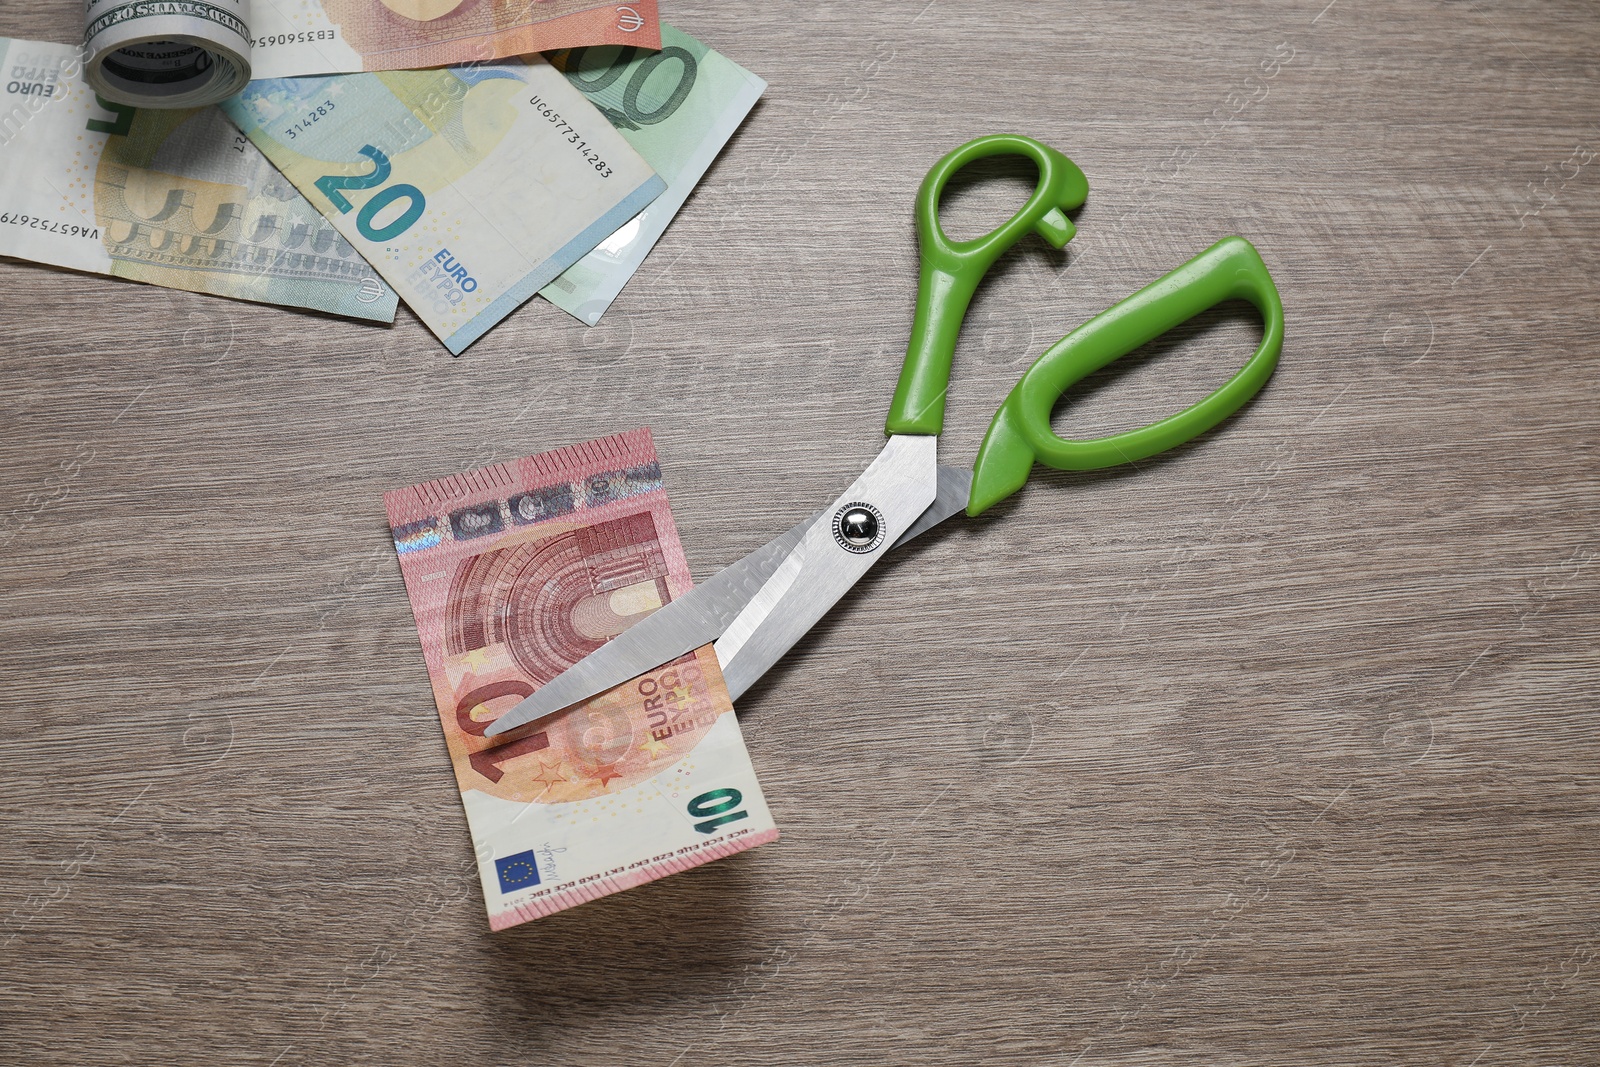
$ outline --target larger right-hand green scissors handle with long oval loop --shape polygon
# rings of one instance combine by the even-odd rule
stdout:
[[[1227,299],[1246,299],[1264,322],[1261,344],[1216,392],[1182,411],[1125,434],[1064,440],[1050,427],[1061,395],[1112,360]],[[1136,462],[1192,440],[1261,392],[1283,349],[1283,301],[1267,266],[1243,237],[1224,237],[1184,266],[1114,304],[1051,346],[995,413],[973,462],[966,514],[1022,488],[1034,461],[1058,470]]]

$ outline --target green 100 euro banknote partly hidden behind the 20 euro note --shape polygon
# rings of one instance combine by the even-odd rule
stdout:
[[[550,62],[667,182],[656,202],[539,291],[594,326],[755,107],[766,82],[666,24],[661,51],[573,48],[552,54]]]

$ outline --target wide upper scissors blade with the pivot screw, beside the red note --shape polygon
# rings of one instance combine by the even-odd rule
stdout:
[[[910,530],[939,490],[938,438],[890,437],[872,466],[822,515],[717,641],[722,677],[734,701],[778,662],[867,569]],[[874,512],[877,541],[851,545],[840,520]],[[856,525],[856,531],[864,530]]]

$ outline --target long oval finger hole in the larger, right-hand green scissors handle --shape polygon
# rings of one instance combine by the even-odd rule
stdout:
[[[1261,312],[1224,301],[1074,384],[1051,410],[1050,429],[1088,440],[1165,419],[1219,389],[1261,338]]]

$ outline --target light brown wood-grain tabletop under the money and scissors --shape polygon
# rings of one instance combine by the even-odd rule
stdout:
[[[1600,1062],[1595,6],[667,14],[771,90],[595,330],[0,264],[0,1062]],[[869,577],[741,704],[779,843],[491,934],[382,491],[650,424],[710,574],[878,448],[912,194],[1005,130],[1091,197],[979,294],[947,459],[1227,234],[1275,381]]]

